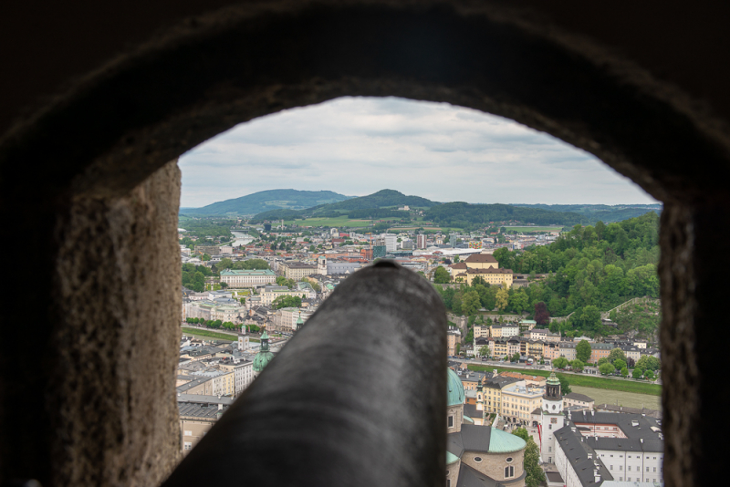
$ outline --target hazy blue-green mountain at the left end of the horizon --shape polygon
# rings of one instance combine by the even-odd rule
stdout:
[[[214,202],[203,208],[181,208],[190,215],[252,215],[271,210],[303,210],[327,203],[344,202],[351,196],[337,192],[303,192],[297,190],[268,190],[255,192],[233,200]]]

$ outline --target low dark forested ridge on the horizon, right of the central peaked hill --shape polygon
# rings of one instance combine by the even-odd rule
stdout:
[[[424,218],[442,226],[470,228],[491,222],[515,221],[538,225],[562,224],[572,226],[589,223],[589,219],[572,212],[551,212],[537,208],[522,208],[511,204],[471,204],[449,202],[429,208]]]

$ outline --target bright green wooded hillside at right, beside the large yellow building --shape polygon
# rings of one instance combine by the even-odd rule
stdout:
[[[460,289],[437,290],[454,313],[474,314],[479,306],[507,312],[532,313],[545,303],[550,316],[570,316],[567,322],[553,322],[550,328],[568,333],[610,333],[602,329],[600,312],[638,296],[659,296],[659,216],[646,213],[619,223],[577,226],[553,244],[524,251],[495,250],[501,267],[516,273],[551,273],[545,280],[527,287],[512,287],[499,299],[496,286],[463,285]],[[506,298],[506,299],[505,299]],[[643,332],[651,333],[659,323],[652,315]],[[614,330],[615,332],[615,330]]]

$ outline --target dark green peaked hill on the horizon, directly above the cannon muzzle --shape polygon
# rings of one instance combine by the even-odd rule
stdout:
[[[260,212],[251,220],[252,223],[262,222],[264,220],[290,220],[293,218],[316,217],[337,217],[340,215],[349,215],[350,218],[386,218],[396,216],[399,213],[395,208],[403,205],[422,208],[431,208],[439,202],[432,202],[420,196],[406,196],[402,192],[393,190],[381,190],[374,192],[368,196],[360,196],[360,198],[351,198],[343,202],[333,202],[328,204],[319,204],[306,210],[292,212],[290,209],[276,209],[266,212]],[[384,208],[393,208],[393,210],[383,210]],[[401,215],[403,216],[403,215]]]

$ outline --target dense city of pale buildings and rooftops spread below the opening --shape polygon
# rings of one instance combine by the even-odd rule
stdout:
[[[266,235],[263,227],[255,230]],[[479,277],[489,285],[519,287],[544,276],[501,268],[492,255],[495,249],[549,244],[558,236],[515,233],[498,243],[485,233],[275,230],[279,231],[268,234],[290,242],[283,251],[272,248],[266,238],[251,238],[238,246],[181,245],[183,264],[218,270],[218,275],[206,278],[202,292],[183,287],[183,324],[217,320],[228,324],[221,332],[231,337],[183,337],[177,377],[183,453],[203,438],[276,351],[306,326],[328,295],[360,268],[391,258],[432,281],[435,270],[443,268],[448,273],[443,285],[472,285]],[[182,229],[180,236],[185,237]],[[267,268],[228,268],[254,260],[265,262]],[[222,263],[226,268],[218,268]],[[286,300],[291,298],[297,298],[296,306],[288,306]],[[661,411],[596,405],[583,394],[564,395],[555,374],[546,378],[496,369],[475,372],[463,368],[462,361],[479,357],[518,357],[517,362],[548,365],[558,357],[572,361],[582,340],[590,345],[592,364],[616,348],[633,362],[642,356],[659,357],[659,350],[646,339],[618,332],[602,341],[568,338],[524,316],[495,316],[489,323],[474,323],[472,343],[465,343],[464,316],[449,319],[454,321],[447,333],[448,354],[459,360],[449,363],[448,487],[524,486],[527,443],[511,434],[517,428],[525,428],[537,444],[540,468],[550,487],[662,482]],[[598,369],[587,365],[585,372],[597,374]]]

